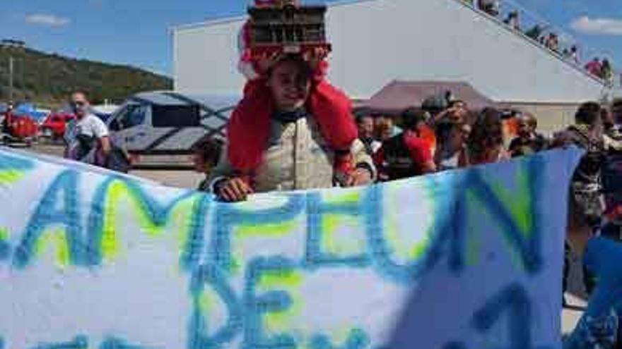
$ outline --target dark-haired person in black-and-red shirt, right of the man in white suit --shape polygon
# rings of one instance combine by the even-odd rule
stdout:
[[[401,115],[404,132],[389,138],[375,154],[381,180],[397,180],[436,171],[428,142],[419,132],[426,122],[426,112],[406,109]]]

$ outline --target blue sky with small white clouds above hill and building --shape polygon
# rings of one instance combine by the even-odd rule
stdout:
[[[305,2],[322,2],[312,0]],[[435,1],[435,0],[426,0]],[[622,67],[622,0],[515,1]],[[250,0],[0,0],[0,39],[172,75],[175,25],[242,15]]]

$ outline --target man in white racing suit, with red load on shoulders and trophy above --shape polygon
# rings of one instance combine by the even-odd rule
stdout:
[[[240,33],[244,97],[211,188],[221,200],[252,192],[365,185],[375,178],[350,99],[326,79],[325,6],[255,0]]]

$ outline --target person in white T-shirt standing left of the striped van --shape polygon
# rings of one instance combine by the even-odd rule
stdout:
[[[102,158],[106,159],[112,149],[110,133],[105,123],[90,113],[90,104],[86,93],[74,92],[71,94],[70,105],[76,120],[73,125],[69,125],[65,135],[66,157],[85,161],[85,157],[95,148],[100,150]]]

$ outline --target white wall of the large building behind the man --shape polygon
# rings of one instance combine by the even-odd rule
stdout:
[[[239,92],[244,18],[175,30],[175,88]],[[455,0],[363,0],[329,7],[331,81],[368,98],[391,80],[459,80],[500,102],[580,102],[603,87]]]

